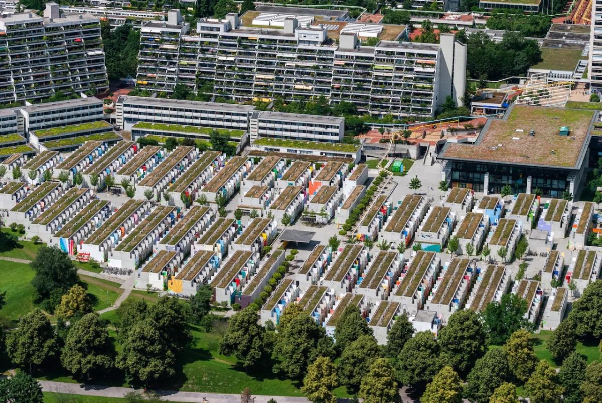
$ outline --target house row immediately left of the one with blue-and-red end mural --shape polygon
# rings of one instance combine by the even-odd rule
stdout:
[[[52,234],[63,222],[68,222],[90,202],[91,198],[92,192],[89,189],[72,187],[67,190],[28,225],[29,237],[38,236],[42,242],[50,242]]]

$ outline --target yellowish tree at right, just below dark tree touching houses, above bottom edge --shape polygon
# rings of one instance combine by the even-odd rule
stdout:
[[[531,334],[524,329],[515,331],[504,345],[504,352],[514,377],[526,382],[538,363]]]

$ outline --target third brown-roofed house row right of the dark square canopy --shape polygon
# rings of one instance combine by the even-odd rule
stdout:
[[[400,258],[398,252],[380,251],[368,264],[365,275],[360,279],[358,292],[374,304],[387,299],[393,292],[403,263],[403,257]]]

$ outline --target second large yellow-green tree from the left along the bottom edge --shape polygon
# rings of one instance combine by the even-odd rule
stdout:
[[[370,371],[362,378],[358,396],[364,403],[399,403],[399,384],[391,361],[377,358],[370,366]]]

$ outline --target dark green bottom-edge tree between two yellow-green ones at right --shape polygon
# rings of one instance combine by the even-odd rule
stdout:
[[[511,375],[506,352],[503,349],[491,349],[474,363],[468,373],[465,397],[474,403],[487,403],[494,390]]]

